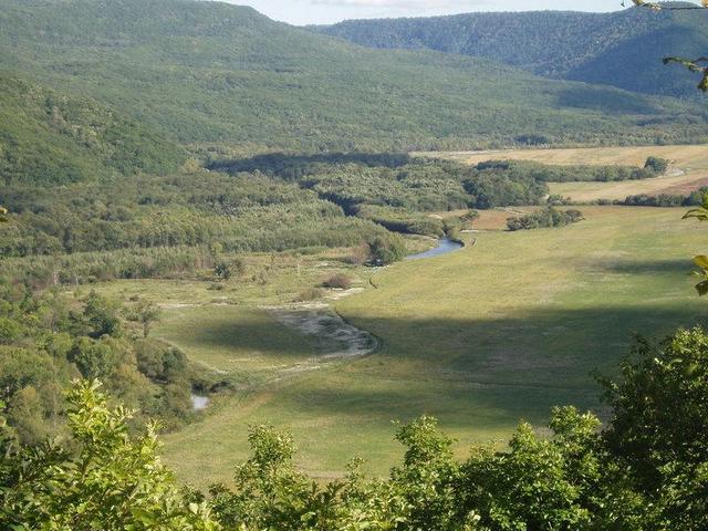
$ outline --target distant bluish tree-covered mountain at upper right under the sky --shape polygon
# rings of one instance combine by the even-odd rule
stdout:
[[[314,30],[377,49],[428,49],[487,58],[538,75],[674,96],[698,79],[667,55],[708,50],[708,11],[632,8],[612,13],[530,11],[350,20]]]

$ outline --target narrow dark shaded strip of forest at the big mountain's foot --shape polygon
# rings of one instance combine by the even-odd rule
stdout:
[[[312,155],[288,155],[269,153],[249,158],[214,160],[210,170],[237,174],[260,171],[283,179],[298,179],[312,173],[321,164],[358,164],[362,166],[397,168],[410,162],[406,153],[322,153]]]

